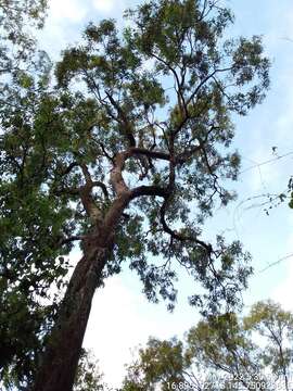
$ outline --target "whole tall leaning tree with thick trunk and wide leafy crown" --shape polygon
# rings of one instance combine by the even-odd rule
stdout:
[[[252,273],[239,242],[209,243],[202,228],[234,198],[224,188],[240,164],[226,153],[230,117],[268,88],[260,38],[225,41],[232,15],[214,1],[151,1],[127,16],[122,33],[112,20],[90,24],[63,52],[54,89],[35,75],[3,108],[3,291],[25,292],[36,313],[64,281],[61,255],[74,241],[82,250],[62,303],[41,306],[38,391],[72,389],[93,293],[126,261],[169,308],[176,264],[186,268],[204,288],[190,298],[204,314],[237,305]]]

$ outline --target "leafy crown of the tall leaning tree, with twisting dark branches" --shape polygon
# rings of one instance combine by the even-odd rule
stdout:
[[[200,235],[217,199],[224,205],[233,199],[222,187],[239,168],[239,155],[224,153],[233,137],[230,114],[245,114],[262,101],[269,64],[258,37],[222,41],[232,21],[228,10],[202,5],[146,3],[128,11],[133,25],[122,34],[111,20],[90,24],[84,45],[65,50],[56,67],[59,88],[69,101],[92,108],[75,131],[79,139],[72,142],[76,150],[67,164],[88,165],[92,181],[105,186],[104,201],[98,193],[101,218],[118,194],[118,184],[111,179],[111,188],[105,181],[105,167],[123,172],[120,185],[132,199],[107,270],[119,270],[130,258],[146,297],[157,301],[160,293],[170,307],[175,260],[206,288],[205,299],[215,307],[221,298],[234,304],[251,273],[240,243],[228,245],[218,237],[214,249]],[[67,109],[73,112],[73,104]],[[77,128],[76,122],[72,126]],[[67,176],[75,178],[75,172]],[[201,298],[193,295],[191,303]]]

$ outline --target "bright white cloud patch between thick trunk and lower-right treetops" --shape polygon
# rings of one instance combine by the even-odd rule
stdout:
[[[194,323],[194,313],[188,304],[169,314],[164,304],[148,303],[139,289],[133,290],[133,286],[116,276],[95,293],[84,346],[93,350],[105,381],[119,387],[135,348],[145,344],[150,336],[162,339],[180,336]]]

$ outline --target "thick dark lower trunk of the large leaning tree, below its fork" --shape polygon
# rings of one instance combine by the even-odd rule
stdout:
[[[34,391],[72,391],[91,302],[110,244],[85,250],[61,304],[59,318],[46,346]]]

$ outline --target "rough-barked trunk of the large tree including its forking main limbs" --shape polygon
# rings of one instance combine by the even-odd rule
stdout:
[[[122,172],[130,155],[131,151],[127,150],[115,157],[111,184],[117,197],[105,216],[102,216],[92,199],[91,190],[97,182],[91,180],[87,166],[81,166],[86,185],[78,192],[95,229],[82,240],[84,256],[71,278],[33,391],[72,391],[92,298],[114,243],[117,223],[125,207],[137,197],[167,194],[166,189],[155,186],[141,186],[132,190],[127,187]]]

